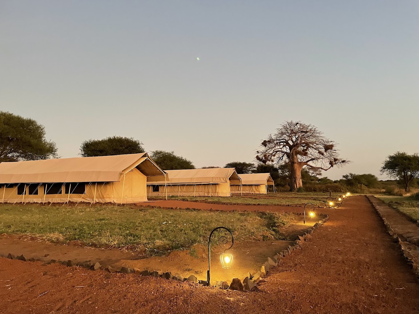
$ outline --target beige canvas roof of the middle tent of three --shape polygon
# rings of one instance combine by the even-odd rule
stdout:
[[[168,174],[166,183],[168,184],[241,183],[235,168],[166,170],[166,172]],[[150,180],[147,184],[165,184],[165,181]]]

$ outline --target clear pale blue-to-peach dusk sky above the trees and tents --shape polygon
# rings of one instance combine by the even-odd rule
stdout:
[[[197,167],[252,162],[285,120],[379,178],[419,152],[419,2],[0,0],[0,110],[62,157],[132,136]],[[199,60],[197,60],[199,58]]]

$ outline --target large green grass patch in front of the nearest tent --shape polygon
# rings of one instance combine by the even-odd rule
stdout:
[[[278,239],[279,228],[296,215],[254,212],[168,210],[128,206],[0,205],[0,233],[28,234],[51,242],[73,240],[99,247],[129,247],[162,254],[206,243],[217,226],[235,239]]]

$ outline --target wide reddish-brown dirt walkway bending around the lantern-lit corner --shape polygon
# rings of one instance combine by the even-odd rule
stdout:
[[[0,312],[419,313],[419,284],[367,199],[329,214],[255,292],[0,259]]]

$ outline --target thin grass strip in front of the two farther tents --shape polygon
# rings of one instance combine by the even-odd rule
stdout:
[[[261,204],[261,205],[304,205],[305,203],[313,203],[315,206],[325,206],[328,193],[272,193],[261,196],[168,196],[168,199],[179,201],[199,201],[209,203],[225,203],[225,204]],[[332,193],[336,198],[337,193]],[[149,200],[163,200],[166,197],[149,197]]]

